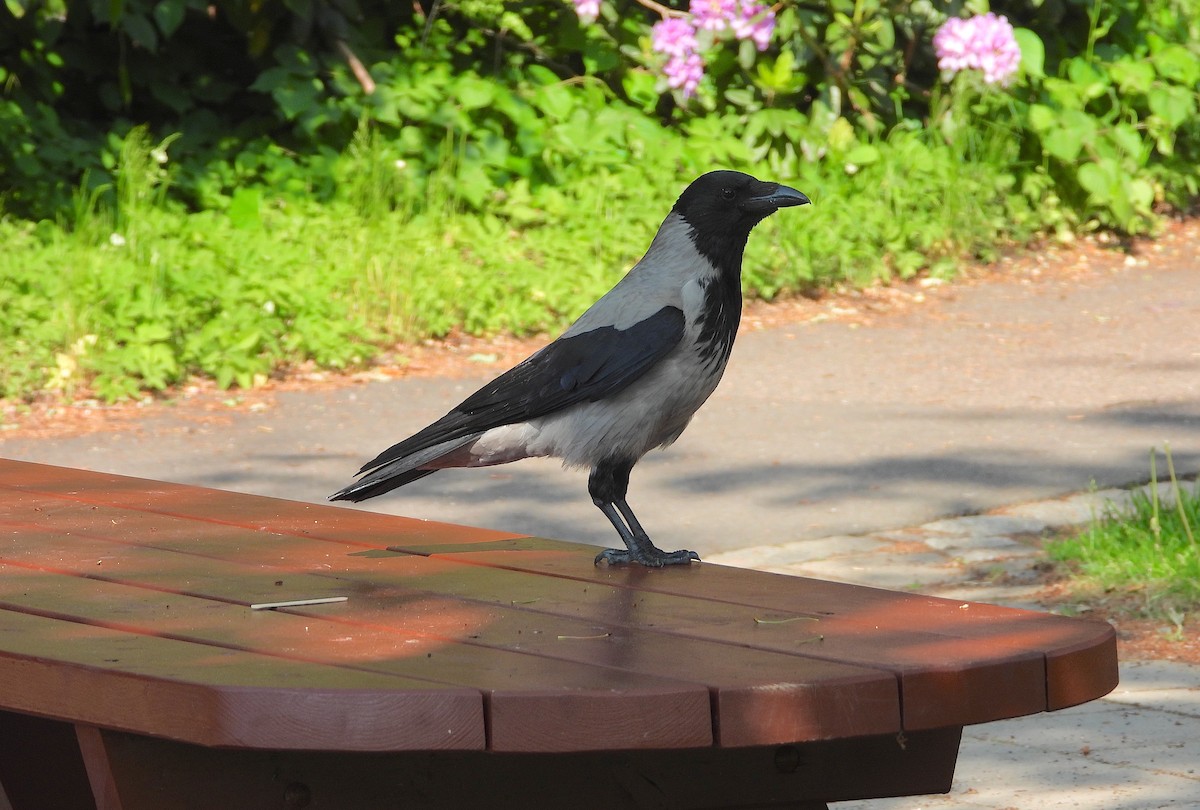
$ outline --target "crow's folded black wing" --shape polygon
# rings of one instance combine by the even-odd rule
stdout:
[[[601,326],[560,337],[517,364],[419,433],[364,464],[360,474],[443,442],[612,396],[678,346],[683,311],[665,306],[629,329]]]

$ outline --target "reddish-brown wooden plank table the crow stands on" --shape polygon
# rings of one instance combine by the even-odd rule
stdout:
[[[594,553],[0,461],[0,785],[14,810],[812,809],[944,792],[964,725],[1117,683],[1103,623]]]

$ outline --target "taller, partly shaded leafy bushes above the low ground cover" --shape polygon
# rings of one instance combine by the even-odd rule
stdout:
[[[846,121],[860,139],[929,125],[959,149],[998,130],[1020,144],[998,168],[1034,211],[1050,200],[1051,224],[1145,230],[1154,204],[1198,191],[1189,2],[997,0],[1025,71],[991,92],[944,86],[930,44],[983,0],[785,2],[764,52],[714,43],[685,101],[652,47],[655,4],[634,0],[600,4],[595,24],[565,0],[74,0],[65,16],[14,0],[0,8],[0,134],[14,145],[0,151],[0,202],[61,214],[85,172],[110,184],[114,146],[139,122],[181,134],[174,194],[193,208],[256,184],[329,199],[335,157],[367,119],[412,182],[452,178],[443,191],[481,210],[517,181],[562,186],[664,160],[664,125],[720,132],[692,164],[769,158],[796,176]]]

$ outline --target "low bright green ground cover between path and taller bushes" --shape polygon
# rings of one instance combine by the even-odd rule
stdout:
[[[166,193],[178,142],[134,130],[114,146],[115,208],[84,188],[70,229],[0,224],[0,396],[113,400],[191,374],[248,386],[289,364],[360,364],[456,328],[560,329],[637,260],[702,143],[661,139],[678,167],[655,163],[658,174],[631,164],[568,186],[520,180],[490,192],[486,214],[463,214],[452,163],[410,182],[364,125],[332,162],[344,180],[331,200],[254,186],[224,211],[187,214]],[[847,142],[804,172],[797,182],[817,204],[803,224],[780,217],[751,240],[750,294],[941,271],[1010,233],[1003,180],[968,174],[922,133]]]

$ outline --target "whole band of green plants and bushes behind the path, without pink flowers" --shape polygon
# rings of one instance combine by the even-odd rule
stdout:
[[[8,0],[0,396],[554,330],[715,167],[816,202],[751,240],[761,298],[1150,230],[1200,193],[1192,1],[996,0],[1007,89],[930,46],[985,0],[788,1],[682,103],[634,0]]]

